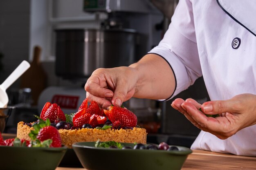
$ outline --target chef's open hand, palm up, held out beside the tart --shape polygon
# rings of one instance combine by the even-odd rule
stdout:
[[[199,104],[193,99],[175,99],[171,104],[196,127],[210,132],[220,139],[227,139],[239,130],[256,124],[256,95],[241,94],[229,100],[219,100]],[[220,117],[207,117],[220,114]]]

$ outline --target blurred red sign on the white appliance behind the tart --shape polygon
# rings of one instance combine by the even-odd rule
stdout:
[[[67,96],[67,95],[54,95],[52,97],[52,103],[58,104],[61,108],[75,109],[79,96]]]

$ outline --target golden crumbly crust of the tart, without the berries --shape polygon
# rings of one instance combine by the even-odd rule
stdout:
[[[29,127],[24,124],[23,121],[18,123],[17,127],[17,137],[19,139],[29,138],[29,133],[34,130],[33,127]],[[101,130],[96,128],[82,128],[74,130],[60,129],[58,132],[61,135],[62,143],[68,148],[72,148],[72,144],[75,142],[85,142],[85,141],[117,141],[125,143],[141,143],[146,144],[147,132],[144,128],[133,128],[131,129],[107,129]]]

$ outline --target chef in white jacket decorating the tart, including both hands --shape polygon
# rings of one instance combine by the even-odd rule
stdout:
[[[203,76],[211,101],[171,104],[202,130],[191,148],[256,156],[255,16],[254,0],[180,0],[159,45],[129,67],[94,71],[87,97],[103,108],[167,100]]]

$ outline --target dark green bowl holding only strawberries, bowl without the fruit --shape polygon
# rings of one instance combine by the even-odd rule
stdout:
[[[67,147],[29,148],[0,146],[1,170],[55,170]]]

